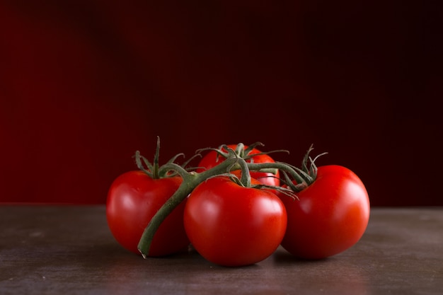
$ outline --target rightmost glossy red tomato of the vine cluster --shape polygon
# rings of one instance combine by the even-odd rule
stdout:
[[[347,250],[369,222],[369,197],[355,173],[343,166],[318,167],[316,180],[299,200],[279,195],[287,209],[282,246],[304,259],[321,259]]]

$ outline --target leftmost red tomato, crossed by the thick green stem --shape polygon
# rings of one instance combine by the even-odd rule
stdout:
[[[140,254],[137,245],[152,216],[173,195],[182,178],[152,179],[142,171],[117,177],[106,202],[108,226],[114,238],[127,250]],[[149,256],[177,253],[189,245],[183,226],[185,202],[166,217],[156,231]]]

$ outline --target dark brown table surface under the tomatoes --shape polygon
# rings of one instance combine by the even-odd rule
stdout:
[[[143,258],[103,206],[0,206],[0,294],[443,294],[443,208],[375,208],[355,246],[301,261],[282,248],[248,267],[190,250]]]

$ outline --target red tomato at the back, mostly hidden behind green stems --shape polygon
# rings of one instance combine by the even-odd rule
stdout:
[[[231,149],[236,149],[236,144],[228,144],[227,145]],[[245,149],[247,149],[248,146],[245,146]],[[226,151],[225,149],[222,149],[222,151]],[[246,157],[246,162],[253,162],[253,163],[275,163],[274,159],[267,155],[267,154],[260,154],[261,151],[258,149],[252,149]],[[258,154],[257,156],[251,156],[254,154]],[[217,154],[217,151],[209,151],[205,156],[203,156],[202,160],[200,160],[200,163],[198,164],[197,172],[202,172],[204,170],[210,169],[214,166],[219,165],[219,163],[222,163],[225,160],[225,158],[219,154]],[[275,173],[272,172],[261,172],[261,171],[251,171],[251,177],[257,179],[260,181],[260,183],[263,183],[264,185],[273,185],[278,186],[280,185],[280,172],[279,170],[275,169]]]

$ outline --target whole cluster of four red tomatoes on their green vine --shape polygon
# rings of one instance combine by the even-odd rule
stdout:
[[[195,169],[174,163],[176,157],[159,166],[159,141],[154,164],[137,152],[139,170],[110,185],[111,233],[144,258],[192,245],[210,262],[231,267],[260,262],[279,245],[299,258],[321,259],[359,241],[369,197],[355,173],[317,168],[311,149],[296,168],[256,146],[209,149]]]

